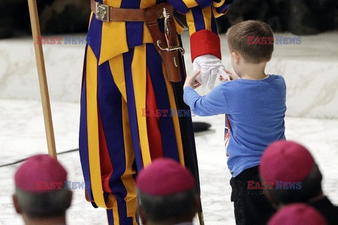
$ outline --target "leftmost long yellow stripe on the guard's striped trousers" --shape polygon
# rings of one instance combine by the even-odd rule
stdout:
[[[89,152],[89,172],[94,201],[99,207],[106,208],[101,181],[99,154],[99,121],[97,115],[97,60],[94,52],[88,46],[86,68],[87,91],[87,135]]]

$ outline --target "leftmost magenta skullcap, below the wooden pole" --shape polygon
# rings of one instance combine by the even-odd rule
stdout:
[[[58,160],[49,155],[28,158],[15,172],[15,186],[32,193],[50,192],[63,188],[67,172]]]

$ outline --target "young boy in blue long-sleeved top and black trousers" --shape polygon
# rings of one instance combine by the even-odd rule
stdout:
[[[234,72],[225,72],[232,81],[199,96],[194,91],[199,86],[196,72],[186,79],[184,101],[196,115],[227,115],[231,125],[227,165],[236,224],[266,224],[273,207],[263,195],[258,165],[263,150],[285,138],[286,86],[282,76],[265,74],[273,53],[273,31],[268,24],[238,23],[227,31],[227,44]]]

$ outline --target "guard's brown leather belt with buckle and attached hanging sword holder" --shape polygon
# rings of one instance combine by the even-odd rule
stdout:
[[[177,43],[177,32],[173,18],[173,6],[168,3],[149,8],[113,8],[91,0],[96,19],[110,21],[145,22],[154,41],[155,48],[163,60],[165,73],[170,82],[180,82],[182,54],[184,49]],[[165,34],[160,31],[158,19],[163,18]]]

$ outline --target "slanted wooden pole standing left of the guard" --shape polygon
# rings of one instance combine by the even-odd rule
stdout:
[[[46,69],[44,67],[44,52],[42,50],[42,43],[40,38],[41,32],[39,25],[39,15],[37,14],[37,1],[28,0],[28,8],[30,8],[30,24],[32,26],[35,58],[37,60],[37,73],[39,75],[39,86],[42,101],[42,110],[44,112],[44,127],[46,129],[48,153],[51,157],[56,158],[53,121],[51,120],[51,105],[49,103]]]

